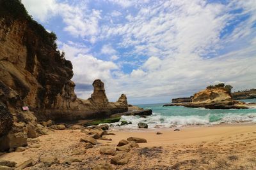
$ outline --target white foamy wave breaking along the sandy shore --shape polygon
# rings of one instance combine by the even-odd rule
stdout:
[[[148,124],[148,128],[154,127],[184,127],[195,125],[216,125],[216,124],[234,124],[242,122],[256,122],[256,113],[208,113],[204,116],[188,115],[188,116],[163,116],[160,113],[154,113],[150,117],[139,116],[122,116],[121,121],[132,122],[132,124],[122,127],[138,128],[138,123],[144,122]]]

